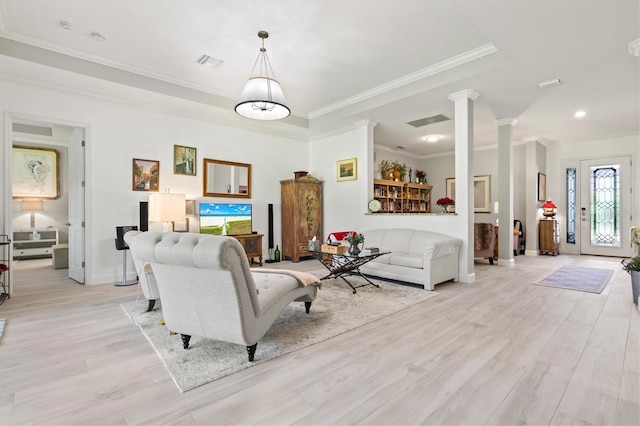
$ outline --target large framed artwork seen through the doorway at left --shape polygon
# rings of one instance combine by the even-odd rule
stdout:
[[[55,199],[60,196],[60,154],[55,149],[14,146],[13,198]]]

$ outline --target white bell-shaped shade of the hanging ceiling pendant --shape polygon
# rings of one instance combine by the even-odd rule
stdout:
[[[269,77],[247,80],[236,105],[236,112],[254,120],[280,120],[291,111],[286,106],[280,83]]]

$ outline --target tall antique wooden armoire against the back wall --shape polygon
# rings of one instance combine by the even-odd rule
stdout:
[[[282,203],[282,258],[298,262],[313,256],[309,240],[324,241],[322,181],[311,175],[280,181]]]

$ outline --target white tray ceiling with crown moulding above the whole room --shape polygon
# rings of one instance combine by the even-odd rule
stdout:
[[[376,144],[416,156],[451,151],[452,121],[405,123],[453,118],[448,95],[465,89],[480,94],[477,145],[497,143],[496,120],[504,118],[518,121],[515,141],[640,134],[640,58],[628,53],[640,38],[640,1],[2,0],[0,7],[7,63],[75,67],[137,87],[160,80],[171,83],[165,93],[227,110],[256,59],[257,32],[269,31],[265,47],[292,110],[284,123],[310,138],[370,119],[378,122]],[[203,54],[224,63],[198,65]],[[113,69],[127,73],[105,71]],[[554,78],[563,84],[537,87]],[[574,118],[578,109],[587,116]],[[443,140],[421,141],[427,134]]]

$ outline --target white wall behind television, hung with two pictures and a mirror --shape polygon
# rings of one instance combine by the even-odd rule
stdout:
[[[121,279],[122,257],[114,248],[115,227],[138,224],[139,202],[148,200],[148,193],[132,190],[133,158],[159,160],[161,190],[170,188],[190,199],[202,199],[203,158],[252,164],[252,198],[248,201],[253,204],[253,229],[266,234],[267,205],[273,203],[274,239],[276,243],[281,241],[279,181],[293,177],[295,170],[308,168],[307,142],[215,124],[201,116],[190,118],[183,112],[153,105],[119,102],[45,85],[7,80],[0,84],[3,115],[37,117],[39,121],[73,123],[87,129],[88,284]],[[213,116],[215,111],[211,109],[210,113]],[[6,130],[3,134],[7,134]],[[3,138],[3,153],[11,142],[6,139]],[[196,177],[173,174],[174,144],[197,148]],[[6,182],[1,187],[0,195],[6,200]],[[265,253],[266,245],[265,235]]]

